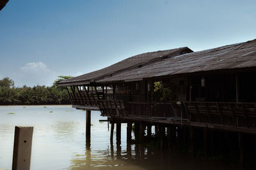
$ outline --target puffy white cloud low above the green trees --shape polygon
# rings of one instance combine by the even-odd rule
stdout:
[[[19,73],[13,79],[15,86],[19,87],[23,85],[30,87],[34,85],[51,86],[57,76],[58,74],[51,71],[43,62],[28,62],[25,66],[20,67]]]

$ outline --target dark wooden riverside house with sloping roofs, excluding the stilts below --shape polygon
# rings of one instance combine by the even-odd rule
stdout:
[[[255,133],[255,73],[256,39],[200,52],[143,53],[59,85],[74,107],[109,117]]]

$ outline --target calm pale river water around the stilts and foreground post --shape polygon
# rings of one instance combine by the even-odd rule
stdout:
[[[70,105],[0,106],[0,169],[12,169],[15,125],[34,127],[31,169],[239,169],[187,153],[138,150],[135,145],[127,149],[125,124],[121,147],[116,148],[115,138],[111,146],[108,122],[99,122],[106,119],[99,111],[92,111],[91,143],[86,148],[85,114]]]

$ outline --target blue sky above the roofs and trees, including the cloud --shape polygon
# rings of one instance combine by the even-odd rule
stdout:
[[[256,1],[10,0],[0,11],[0,78],[51,85],[132,55],[256,38]]]

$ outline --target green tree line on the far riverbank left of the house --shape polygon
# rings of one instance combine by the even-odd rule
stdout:
[[[58,87],[57,81],[71,76],[58,76],[51,87],[36,85],[34,87],[15,87],[8,77],[0,80],[0,105],[11,104],[70,104],[65,87]]]

